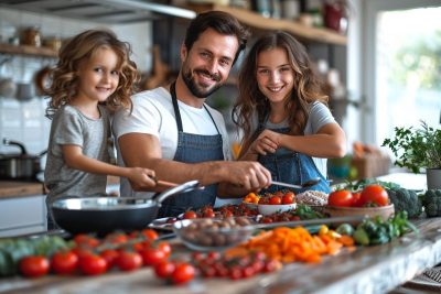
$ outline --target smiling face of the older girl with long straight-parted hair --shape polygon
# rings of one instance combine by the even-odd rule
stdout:
[[[294,72],[283,48],[260,52],[256,68],[259,90],[271,105],[283,104],[289,99],[294,87]]]

